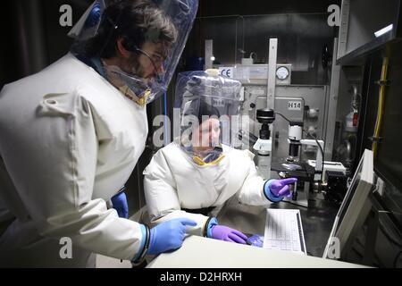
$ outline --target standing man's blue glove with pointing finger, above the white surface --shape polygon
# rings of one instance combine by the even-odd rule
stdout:
[[[186,225],[197,223],[188,218],[176,218],[156,225],[150,231],[150,242],[147,254],[157,255],[162,252],[181,247],[186,234]]]

